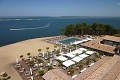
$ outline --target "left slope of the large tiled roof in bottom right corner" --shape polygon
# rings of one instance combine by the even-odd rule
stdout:
[[[120,60],[120,56],[117,56],[117,55],[113,56],[111,59],[106,61],[102,66],[100,66],[97,70],[95,70],[85,80],[102,80],[107,74],[109,74],[111,69],[116,65],[116,63],[119,60]],[[109,79],[109,80],[112,80],[112,79]]]

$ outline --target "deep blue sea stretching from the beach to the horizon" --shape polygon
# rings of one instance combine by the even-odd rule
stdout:
[[[83,22],[120,28],[120,17],[0,17],[0,46],[33,38],[58,36],[61,28]]]

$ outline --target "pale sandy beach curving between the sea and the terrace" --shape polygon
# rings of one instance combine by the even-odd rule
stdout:
[[[21,60],[20,55],[24,55],[26,58],[29,52],[32,56],[38,55],[38,49],[42,49],[44,52],[46,51],[46,47],[49,47],[49,50],[54,49],[53,44],[41,41],[45,38],[29,39],[0,47],[0,72],[5,71],[11,76],[11,80],[22,80],[12,64],[16,62],[16,58]]]

